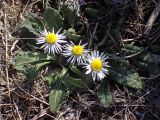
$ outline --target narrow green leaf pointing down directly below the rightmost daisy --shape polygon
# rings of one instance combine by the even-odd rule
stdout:
[[[112,93],[107,80],[102,80],[97,92],[98,98],[104,107],[109,107],[112,103]]]

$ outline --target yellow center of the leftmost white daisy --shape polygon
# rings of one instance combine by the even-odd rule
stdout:
[[[54,44],[58,39],[58,36],[54,33],[48,33],[48,35],[46,36],[46,42],[48,44]]]

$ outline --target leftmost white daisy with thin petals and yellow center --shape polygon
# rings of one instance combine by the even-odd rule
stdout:
[[[60,29],[61,30],[61,29]],[[60,30],[57,33],[54,32],[47,32],[45,29],[39,38],[36,39],[37,44],[43,44],[41,48],[44,49],[45,52],[49,54],[58,54],[62,51],[61,43],[65,43],[64,39],[66,36],[64,34],[59,34]]]

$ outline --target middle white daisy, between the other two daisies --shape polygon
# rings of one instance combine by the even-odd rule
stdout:
[[[73,42],[71,44],[67,44],[64,47],[63,55],[68,58],[68,62],[74,64],[77,62],[78,65],[85,63],[85,57],[89,50],[85,49],[87,44],[81,45],[81,41],[78,45],[75,45]]]

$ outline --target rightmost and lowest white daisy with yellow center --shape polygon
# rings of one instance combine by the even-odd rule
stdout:
[[[86,74],[91,73],[94,81],[103,79],[109,73],[107,67],[110,66],[106,62],[107,59],[108,57],[103,53],[99,54],[99,51],[91,52],[91,55],[86,57],[87,63],[84,64],[84,68],[87,69]]]

